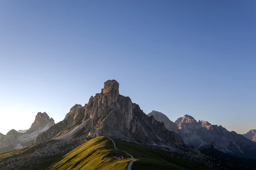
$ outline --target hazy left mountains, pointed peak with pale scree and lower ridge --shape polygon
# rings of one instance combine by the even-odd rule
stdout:
[[[25,133],[19,133],[14,129],[6,135],[0,133],[0,152],[20,149],[33,144],[39,134],[53,125],[55,125],[54,120],[49,118],[47,113],[39,112],[29,130]]]

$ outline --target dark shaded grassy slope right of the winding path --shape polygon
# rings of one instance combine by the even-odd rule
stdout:
[[[134,156],[132,170],[210,170],[209,167],[186,159],[176,158],[171,152],[113,139],[116,147]]]

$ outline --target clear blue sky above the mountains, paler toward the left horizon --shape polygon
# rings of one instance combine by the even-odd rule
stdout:
[[[255,0],[0,1],[0,132],[116,79],[145,113],[256,129]]]

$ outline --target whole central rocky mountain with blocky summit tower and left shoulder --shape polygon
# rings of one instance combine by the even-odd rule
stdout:
[[[111,136],[172,149],[187,148],[180,135],[167,130],[154,116],[147,116],[129,97],[120,95],[116,80],[106,81],[101,93],[91,96],[84,106],[73,106],[63,121],[40,134],[35,141],[71,139],[78,134],[88,138]]]

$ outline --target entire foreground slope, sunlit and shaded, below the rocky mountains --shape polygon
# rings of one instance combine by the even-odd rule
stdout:
[[[102,160],[104,156],[116,152],[111,140],[105,136],[98,136],[84,142],[74,147],[73,150],[65,150],[67,147],[75,146],[72,140],[65,142],[51,140],[0,155],[0,169],[15,170],[20,167],[23,170],[126,170],[128,162],[131,161],[130,156],[125,153],[123,153],[125,159],[122,160]],[[131,167],[132,170],[210,170],[210,167],[228,170],[237,170],[239,167],[239,170],[254,170],[256,167],[256,160],[241,159],[227,154],[221,155],[222,152],[214,153],[214,157],[211,157],[207,155],[208,153],[169,152],[118,139],[113,140],[118,149],[134,156],[135,162]],[[53,151],[64,152],[52,154]],[[222,161],[222,157],[227,157],[227,159]]]

